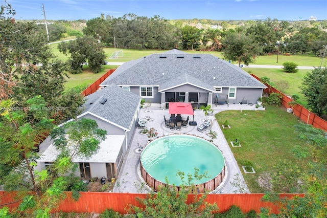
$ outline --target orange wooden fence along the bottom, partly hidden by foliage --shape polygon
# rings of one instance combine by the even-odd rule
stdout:
[[[17,192],[5,192],[0,191],[0,208],[7,206],[11,210],[17,208],[20,201],[16,199]],[[128,213],[126,209],[130,205],[135,205],[142,207],[142,205],[136,201],[138,198],[146,198],[146,194],[136,194],[136,193],[109,193],[109,192],[80,192],[81,197],[78,201],[71,198],[71,192],[66,192],[67,198],[63,200],[57,211],[63,212],[95,212],[102,213],[105,209],[112,208],[114,211],[118,211],[122,214]],[[278,213],[278,206],[273,205],[269,202],[262,202],[260,199],[264,194],[208,194],[206,202],[213,204],[216,203],[219,211],[224,212],[228,210],[231,205],[237,205],[241,208],[243,212],[248,212],[253,209],[256,212],[260,212],[260,208],[266,207],[272,213]],[[293,198],[295,195],[303,197],[304,194],[281,194],[281,197]],[[193,194],[189,194],[188,202],[194,198]],[[5,205],[6,204],[6,205]]]

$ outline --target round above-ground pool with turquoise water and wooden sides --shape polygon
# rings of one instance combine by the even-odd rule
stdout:
[[[225,176],[226,166],[222,152],[211,142],[195,136],[171,135],[150,142],[141,154],[141,175],[155,191],[165,184],[182,185],[179,171],[194,175],[195,167],[199,173],[207,172],[209,178],[194,181],[199,192],[214,190]]]

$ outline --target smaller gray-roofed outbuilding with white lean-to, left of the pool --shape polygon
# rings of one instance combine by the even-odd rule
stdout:
[[[140,96],[115,84],[86,97],[84,111],[76,119],[96,120],[99,128],[107,130],[108,135],[100,144],[97,154],[90,158],[74,158],[73,162],[78,163],[80,169],[77,176],[89,180],[94,177],[111,179],[119,175],[137,126],[140,102]],[[59,154],[50,140],[43,143],[49,143],[49,147],[38,160],[40,168],[51,165]]]

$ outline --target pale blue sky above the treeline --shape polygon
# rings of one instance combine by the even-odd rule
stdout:
[[[0,0],[4,4],[5,0]],[[247,20],[277,18],[305,20],[310,16],[327,19],[326,0],[202,0],[202,1],[121,1],[121,0],[7,0],[16,11],[16,19],[91,19],[101,14],[121,17],[159,15],[166,19]]]

